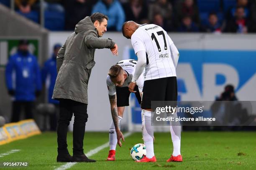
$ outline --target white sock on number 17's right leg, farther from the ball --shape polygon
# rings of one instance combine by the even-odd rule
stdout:
[[[172,135],[173,144],[173,156],[178,156],[180,154],[180,140],[181,140],[181,125],[179,122],[170,122],[170,131]]]

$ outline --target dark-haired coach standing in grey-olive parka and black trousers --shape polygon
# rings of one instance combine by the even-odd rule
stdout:
[[[95,49],[110,48],[118,55],[118,46],[111,39],[101,39],[107,31],[108,16],[94,13],[79,21],[57,55],[57,78],[53,99],[60,101],[58,120],[57,162],[95,162],[84,155],[83,140],[87,122],[87,87]],[[67,150],[67,128],[74,113],[73,157]]]

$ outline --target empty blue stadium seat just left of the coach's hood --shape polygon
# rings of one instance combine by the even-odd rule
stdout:
[[[44,24],[45,28],[52,31],[64,30],[65,14],[57,11],[45,11]]]

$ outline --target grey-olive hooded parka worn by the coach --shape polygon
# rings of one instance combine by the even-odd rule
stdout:
[[[88,103],[87,87],[95,65],[95,48],[112,48],[115,42],[100,39],[90,17],[79,21],[57,55],[57,79],[52,98]]]

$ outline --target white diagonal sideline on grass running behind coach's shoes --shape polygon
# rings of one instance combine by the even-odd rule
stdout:
[[[131,134],[133,134],[133,133],[131,133],[131,132],[125,133],[123,135],[123,137],[126,138],[126,137],[130,136]],[[87,157],[90,157],[90,156],[94,155],[95,153],[98,153],[100,150],[107,148],[108,146],[109,146],[109,142],[104,143],[103,145],[100,145],[99,147],[90,150],[85,155]],[[75,164],[77,164],[77,163],[66,163],[64,165],[61,165],[59,168],[56,168],[55,170],[67,170],[67,169],[71,168],[72,166],[74,166]]]

